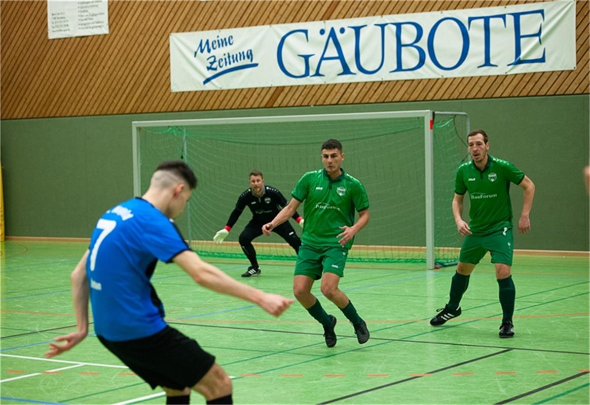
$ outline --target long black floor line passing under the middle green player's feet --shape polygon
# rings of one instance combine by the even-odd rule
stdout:
[[[205,324],[188,324],[185,322],[168,322],[168,324],[174,325],[186,325],[186,326],[198,326],[204,328],[219,328],[219,329],[235,329],[243,331],[255,331],[255,332],[276,332],[276,333],[288,333],[296,335],[310,335],[310,336],[323,336],[321,333],[314,332],[297,332],[297,331],[278,331],[274,329],[260,329],[260,328],[246,328],[246,327],[235,327],[235,326],[222,326],[222,325],[205,325]],[[337,335],[338,337],[355,338],[353,335]],[[394,339],[394,338],[378,338],[371,337],[371,340],[391,341],[391,342],[402,342],[402,343],[421,343],[421,344],[436,344],[445,346],[460,346],[460,347],[479,347],[487,349],[506,349],[505,346],[494,346],[484,344],[468,344],[468,343],[449,343],[449,342],[431,342],[426,340],[405,340],[405,339]],[[549,350],[549,349],[532,349],[526,347],[509,347],[510,350],[524,350],[524,351],[535,351],[539,353],[559,353],[559,354],[581,354],[590,355],[590,353],[584,353],[581,351],[565,351],[565,350]]]

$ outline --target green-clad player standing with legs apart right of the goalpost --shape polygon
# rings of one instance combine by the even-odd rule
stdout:
[[[499,286],[502,324],[500,337],[514,335],[512,315],[516,289],[510,275],[512,266],[512,204],[510,183],[525,190],[522,212],[518,221],[520,233],[530,230],[529,213],[535,196],[535,185],[525,173],[506,160],[490,156],[487,134],[483,130],[471,131],[467,135],[467,146],[471,161],[461,164],[455,179],[453,215],[457,230],[465,236],[457,271],[451,281],[450,299],[444,308],[430,320],[432,326],[440,326],[451,318],[461,315],[459,302],[469,285],[469,275],[481,258],[490,252],[491,262],[496,268]],[[463,197],[469,194],[469,218],[467,223],[461,217]]]

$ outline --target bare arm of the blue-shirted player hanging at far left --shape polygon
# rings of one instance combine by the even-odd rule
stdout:
[[[49,350],[45,353],[45,357],[47,358],[70,350],[83,341],[88,334],[88,301],[90,297],[88,278],[86,276],[86,259],[88,258],[88,253],[89,251],[87,250],[70,275],[77,331],[56,337],[56,342],[65,343],[61,345],[50,343]]]

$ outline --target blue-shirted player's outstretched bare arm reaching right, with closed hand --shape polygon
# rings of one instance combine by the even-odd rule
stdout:
[[[253,302],[275,317],[282,314],[293,302],[293,299],[277,294],[267,294],[260,289],[235,281],[217,267],[202,260],[193,251],[183,251],[176,255],[173,261],[202,287]]]

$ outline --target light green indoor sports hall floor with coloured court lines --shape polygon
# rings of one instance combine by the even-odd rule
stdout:
[[[2,246],[0,401],[3,404],[163,404],[104,349],[93,330],[74,350],[47,360],[47,343],[74,330],[69,274],[84,242],[9,241]],[[227,274],[292,297],[293,262],[218,262]],[[497,284],[489,256],[474,272],[463,315],[428,320],[447,300],[453,268],[349,264],[340,287],[371,331],[359,345],[336,315],[336,347],[297,303],[272,318],[247,302],[194,284],[159,264],[153,285],[167,320],[196,338],[232,376],[235,403],[248,404],[588,404],[588,258],[516,256],[516,335],[500,339]],[[319,286],[313,290],[319,294]],[[192,403],[205,403],[192,394]]]

